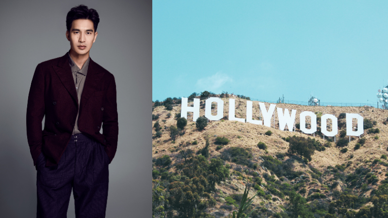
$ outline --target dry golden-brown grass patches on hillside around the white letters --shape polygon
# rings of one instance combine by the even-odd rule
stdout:
[[[229,110],[229,101],[227,98],[222,98],[224,101],[224,117],[228,116],[228,110]],[[265,103],[266,108],[268,109],[269,103]],[[246,118],[246,100],[236,98],[235,102],[236,112],[235,116],[238,118]],[[328,166],[335,166],[335,165],[341,165],[346,164],[348,161],[352,161],[353,163],[345,170],[346,171],[354,171],[357,167],[365,166],[370,167],[371,163],[365,163],[366,160],[372,160],[375,158],[380,158],[381,155],[385,154],[388,156],[387,152],[387,145],[388,145],[388,125],[384,125],[383,122],[388,117],[388,110],[383,109],[375,109],[375,108],[368,108],[368,107],[323,107],[323,106],[301,106],[301,105],[292,105],[292,104],[276,104],[276,107],[283,108],[283,109],[289,109],[291,112],[291,109],[296,109],[296,123],[299,123],[299,114],[302,111],[312,111],[312,112],[322,112],[323,114],[333,114],[337,118],[340,113],[359,113],[364,118],[372,119],[374,121],[377,121],[377,125],[374,126],[374,128],[379,128],[380,133],[378,134],[367,134],[367,130],[364,130],[363,137],[367,139],[364,146],[361,146],[360,149],[354,150],[354,146],[358,140],[358,137],[351,137],[351,142],[347,146],[348,152],[345,154],[342,154],[339,152],[339,148],[335,146],[335,143],[332,143],[332,147],[326,148],[323,152],[316,151],[315,154],[312,156],[312,161],[309,163],[312,167],[319,169],[321,172],[323,172]],[[166,115],[168,113],[171,113],[170,118],[166,118]],[[194,140],[197,140],[198,144],[193,145],[190,144],[187,146],[187,148],[191,148],[194,151],[197,151],[200,148],[203,148],[205,146],[206,138],[210,139],[210,156],[218,156],[220,151],[215,151],[215,148],[217,145],[213,144],[216,136],[223,137],[225,136],[230,140],[230,142],[225,145],[224,147],[233,147],[233,146],[240,146],[245,148],[252,148],[252,155],[254,156],[254,160],[260,163],[261,161],[257,158],[258,156],[265,155],[263,150],[260,150],[257,147],[257,144],[259,141],[264,142],[268,146],[268,155],[274,156],[277,153],[285,153],[287,152],[289,148],[289,143],[282,140],[281,138],[287,138],[292,137],[293,135],[296,136],[303,136],[303,137],[314,137],[312,134],[304,134],[300,131],[296,132],[289,132],[287,131],[281,131],[278,128],[278,119],[277,119],[277,112],[275,109],[275,128],[273,127],[267,127],[264,125],[254,125],[249,123],[241,123],[236,121],[212,121],[208,124],[208,126],[203,131],[198,131],[195,128],[195,123],[192,121],[192,119],[188,120],[186,129],[186,134],[183,136],[179,136],[175,143],[172,143],[172,141],[169,138],[167,127],[170,125],[176,125],[176,119],[175,114],[180,113],[180,106],[173,107],[173,110],[167,111],[164,109],[164,107],[157,107],[154,109],[153,114],[159,115],[159,123],[162,126],[162,130],[164,130],[162,133],[161,138],[156,138],[152,141],[152,157],[157,158],[162,155],[169,155],[173,157],[173,161],[178,160],[178,152],[176,152],[179,144],[186,144],[187,142],[193,142]],[[205,109],[200,109],[200,116],[205,115]],[[253,118],[259,119],[259,102],[253,101]],[[162,120],[165,120],[165,123],[162,122]],[[152,125],[154,125],[156,121],[152,121]],[[273,134],[271,136],[266,136],[264,133],[268,130],[271,130]],[[152,134],[155,134],[155,129],[152,129]],[[375,140],[374,136],[378,136],[379,139]],[[337,137],[339,137],[337,135]],[[316,140],[319,140],[322,144],[324,143],[324,140],[322,138],[319,138],[315,136]],[[338,138],[337,138],[338,139]],[[157,152],[157,153],[156,153]],[[354,157],[350,158],[350,155],[353,154]],[[383,160],[387,162],[387,160]],[[174,164],[174,162],[173,162]],[[234,165],[233,163],[229,163],[230,165]],[[308,168],[306,166],[303,166],[304,164],[297,164],[295,163],[295,169],[296,171],[307,171]],[[386,170],[381,168],[381,165],[373,166],[372,169],[382,171],[381,174],[376,174],[379,178],[379,181],[385,179],[385,173]],[[232,170],[230,170],[232,171]],[[257,170],[261,174],[261,169]],[[327,174],[325,177],[326,180],[329,180],[332,177],[332,175]],[[311,178],[310,178],[311,179]],[[311,180],[312,181],[312,180]],[[242,193],[244,190],[244,184],[242,181],[237,180],[236,178],[232,179],[232,184],[235,184],[239,187],[238,191],[234,191],[230,189],[227,185],[217,185],[216,188],[219,190],[222,190],[225,194],[232,194],[232,193]],[[265,180],[263,179],[263,183],[265,184]],[[378,182],[377,185],[380,183]],[[312,187],[319,187],[321,184],[314,184],[311,186],[307,186],[307,193],[308,190]],[[322,189],[322,187],[320,187]],[[249,196],[253,196],[255,191],[252,189],[250,191]],[[367,196],[369,195],[370,191],[367,192]],[[307,194],[305,195],[305,197]],[[257,198],[254,203],[258,204],[259,202],[264,201],[267,202],[264,199]],[[284,200],[281,200],[280,202],[274,202],[274,204],[283,204]]]

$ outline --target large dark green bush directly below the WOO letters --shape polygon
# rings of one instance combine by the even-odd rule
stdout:
[[[290,138],[288,153],[300,156],[300,158],[304,157],[304,159],[311,161],[311,156],[315,152],[314,142],[315,140],[313,141],[310,138],[306,139],[304,137],[293,136]]]

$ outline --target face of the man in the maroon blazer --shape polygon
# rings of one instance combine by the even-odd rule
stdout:
[[[88,19],[73,20],[70,32],[66,31],[66,38],[70,42],[70,49],[73,53],[89,56],[89,50],[97,38],[93,21]]]

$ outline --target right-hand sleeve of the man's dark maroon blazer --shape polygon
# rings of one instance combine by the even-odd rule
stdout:
[[[117,150],[118,138],[116,83],[113,75],[105,95],[104,113],[102,116],[102,134],[105,137],[105,151],[109,156],[109,163],[111,163]]]

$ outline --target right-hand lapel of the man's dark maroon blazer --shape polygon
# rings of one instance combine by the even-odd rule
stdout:
[[[86,74],[86,79],[85,83],[83,84],[83,91],[81,94],[80,113],[81,109],[85,106],[89,98],[96,92],[102,76],[104,76],[104,72],[100,71],[97,67],[97,63],[90,58],[88,72]]]

